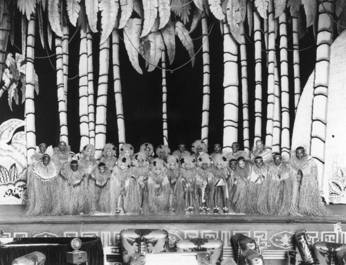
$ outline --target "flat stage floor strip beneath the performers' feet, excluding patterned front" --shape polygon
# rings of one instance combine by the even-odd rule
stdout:
[[[22,205],[0,205],[0,225],[33,223],[346,223],[346,205],[327,205],[330,217],[293,217],[264,214],[197,214],[197,215],[109,215],[81,214],[23,217]]]

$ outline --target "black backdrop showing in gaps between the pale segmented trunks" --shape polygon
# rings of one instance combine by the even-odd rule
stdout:
[[[222,143],[223,118],[224,118],[224,64],[223,64],[223,39],[220,32],[219,21],[210,19],[210,123],[209,123],[209,145]],[[75,35],[74,35],[75,34]],[[69,141],[73,151],[78,152],[80,145],[79,116],[78,116],[78,61],[79,61],[79,30],[71,27],[70,37],[74,37],[69,43],[69,91],[68,91],[68,126]],[[122,36],[122,32],[120,32]],[[16,34],[15,46],[9,43],[8,51],[20,53],[20,33]],[[289,36],[291,36],[289,34]],[[253,144],[253,122],[254,122],[254,44],[252,36],[247,38],[248,51],[248,91],[249,91],[249,114],[250,135]],[[202,44],[201,27],[192,33],[194,39],[194,50],[197,52]],[[291,47],[291,37],[289,46]],[[57,112],[57,86],[55,71],[55,47],[42,48],[38,37],[36,37],[35,48],[35,70],[39,77],[39,95],[35,96],[36,111],[36,136],[37,144],[45,142],[56,146],[59,141],[59,117]],[[94,34],[93,57],[94,57],[94,81],[95,91],[98,82],[98,43],[99,35]],[[316,45],[313,32],[309,28],[307,35],[300,40],[300,69],[302,77],[302,88],[309,74],[314,68],[316,57]],[[290,48],[291,49],[291,48]],[[277,50],[278,51],[278,50]],[[289,51],[289,56],[292,52]],[[265,57],[265,49],[263,49]],[[111,56],[110,56],[111,58]],[[169,68],[179,68],[190,59],[181,42],[176,38],[176,57]],[[120,75],[122,84],[123,108],[125,114],[126,140],[131,143],[137,151],[141,143],[149,142],[156,147],[163,143],[162,129],[162,87],[161,70],[156,68],[152,73],[144,70],[143,75],[138,74],[129,62],[124,43],[120,40]],[[161,63],[160,63],[161,65]],[[290,59],[291,75],[293,66]],[[266,80],[266,62],[263,63],[263,80]],[[110,62],[111,70],[111,62]],[[239,68],[240,70],[240,68]],[[230,73],[231,74],[231,73]],[[118,145],[118,128],[116,123],[116,107],[113,93],[113,76],[109,76],[109,92],[107,105],[107,142]],[[194,67],[187,64],[171,73],[167,71],[167,114],[168,114],[168,138],[172,150],[179,143],[191,145],[196,139],[201,138],[201,107],[202,107],[202,82],[203,64],[202,53],[196,55]],[[239,73],[239,86],[240,86]],[[290,84],[291,91],[291,127],[293,127],[293,80]],[[96,93],[95,93],[96,94]],[[13,105],[10,111],[7,103],[8,94],[0,98],[0,123],[9,118],[24,119],[24,104]],[[239,102],[242,102],[242,91],[239,89]],[[96,98],[95,98],[96,102]],[[263,117],[266,117],[266,82],[263,84]],[[263,119],[265,122],[265,119]],[[265,123],[262,125],[265,135]],[[239,143],[242,143],[242,107],[239,106]],[[211,149],[211,148],[210,148]]]

